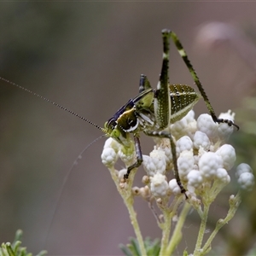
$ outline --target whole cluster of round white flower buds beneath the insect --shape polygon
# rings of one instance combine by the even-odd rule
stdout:
[[[221,113],[219,118],[234,120],[234,113],[229,110]],[[229,171],[236,161],[236,151],[225,141],[233,132],[234,126],[226,123],[216,124],[212,117],[201,114],[195,120],[194,111],[183,117],[183,119],[170,125],[166,131],[176,141],[177,168],[183,186],[192,195],[202,195],[206,188],[211,188],[218,183],[218,188],[230,183]],[[168,139],[155,139],[154,150],[148,155],[143,155],[143,167],[148,176],[148,188],[154,197],[166,195],[179,195],[180,188],[176,179],[167,182],[166,174],[172,167],[172,151]],[[102,162],[106,166],[113,166],[116,160],[122,156],[124,161],[124,150],[113,139],[109,138],[105,143],[102,153]],[[134,151],[132,154],[135,154]],[[127,156],[131,160],[136,160]],[[125,165],[127,166],[127,162]],[[131,164],[130,164],[131,165]],[[119,178],[123,177],[119,175]],[[252,189],[254,177],[250,166],[241,164],[237,167],[236,177],[242,189]],[[219,191],[220,191],[219,189]]]

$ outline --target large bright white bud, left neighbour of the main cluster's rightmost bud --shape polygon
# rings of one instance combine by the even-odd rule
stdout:
[[[223,160],[218,154],[207,152],[201,156],[198,161],[199,170],[203,177],[212,178],[215,176],[217,169],[222,167]]]

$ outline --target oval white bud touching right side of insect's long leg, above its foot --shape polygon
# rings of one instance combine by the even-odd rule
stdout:
[[[188,173],[192,170],[194,166],[195,160],[192,150],[185,150],[183,151],[178,159],[177,159],[177,169],[179,176],[181,178],[185,178],[188,175]]]

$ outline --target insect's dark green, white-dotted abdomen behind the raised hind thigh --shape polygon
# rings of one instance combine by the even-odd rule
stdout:
[[[201,95],[189,85],[170,84],[171,96],[171,123],[182,119],[191,110]]]

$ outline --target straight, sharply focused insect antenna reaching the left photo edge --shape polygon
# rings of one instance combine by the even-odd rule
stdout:
[[[101,126],[96,125],[95,123],[93,123],[93,122],[90,121],[89,119],[85,119],[83,116],[79,115],[78,113],[75,113],[75,112],[73,112],[72,110],[69,110],[69,109],[63,107],[63,106],[61,106],[60,104],[58,104],[58,103],[56,103],[56,102],[52,102],[52,101],[50,101],[49,99],[45,98],[44,96],[40,96],[40,95],[38,95],[38,93],[33,92],[32,90],[28,90],[28,89],[26,89],[25,87],[21,86],[20,84],[16,84],[16,83],[14,83],[14,82],[11,82],[11,81],[9,81],[8,79],[3,79],[2,77],[0,77],[0,79],[3,80],[4,82],[8,83],[8,84],[15,85],[16,87],[20,88],[21,90],[25,90],[26,92],[32,94],[33,96],[37,96],[38,98],[44,100],[45,102],[49,102],[50,104],[55,105],[56,107],[61,108],[61,109],[65,110],[65,111],[67,111],[68,113],[73,114],[74,116],[78,117],[79,119],[84,120],[85,122],[89,123],[90,125],[93,125],[93,126],[96,127],[97,129],[99,129],[99,130],[101,130],[102,132],[105,133],[105,130],[104,130]]]

